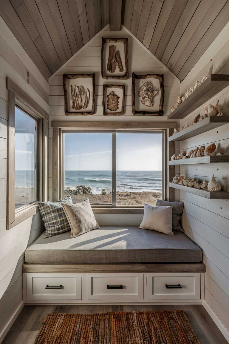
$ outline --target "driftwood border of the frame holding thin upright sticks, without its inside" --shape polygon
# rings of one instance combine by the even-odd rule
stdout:
[[[92,108],[91,112],[69,112],[68,111],[68,96],[67,96],[67,79],[80,79],[80,78],[92,78]],[[95,73],[93,74],[63,74],[63,86],[65,95],[65,115],[67,116],[79,116],[79,115],[93,115],[95,113]]]

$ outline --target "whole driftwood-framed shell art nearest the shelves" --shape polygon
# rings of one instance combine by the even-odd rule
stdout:
[[[133,115],[163,116],[164,75],[132,73]]]

